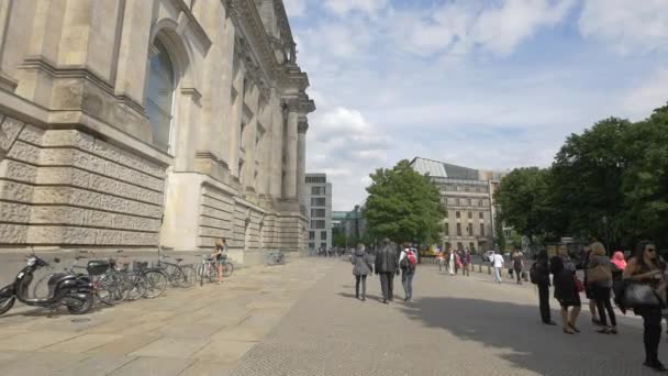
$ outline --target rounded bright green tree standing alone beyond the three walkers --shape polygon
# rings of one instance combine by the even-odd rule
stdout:
[[[415,172],[408,161],[377,169],[364,209],[371,235],[394,242],[434,244],[441,237],[445,210],[430,177]]]

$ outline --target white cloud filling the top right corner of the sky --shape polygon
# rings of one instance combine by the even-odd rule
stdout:
[[[587,0],[579,20],[582,35],[617,51],[668,49],[666,0]]]

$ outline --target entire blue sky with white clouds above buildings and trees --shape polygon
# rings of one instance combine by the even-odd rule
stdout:
[[[568,134],[668,101],[668,0],[285,3],[334,210],[402,158],[547,166]]]

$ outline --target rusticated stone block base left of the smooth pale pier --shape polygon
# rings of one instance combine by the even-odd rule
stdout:
[[[158,244],[166,166],[78,130],[0,130],[0,245]]]

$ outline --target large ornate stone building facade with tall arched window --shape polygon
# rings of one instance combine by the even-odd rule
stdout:
[[[0,0],[0,246],[304,250],[281,0]]]

